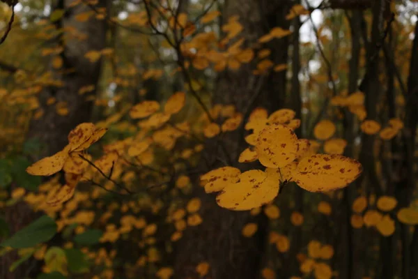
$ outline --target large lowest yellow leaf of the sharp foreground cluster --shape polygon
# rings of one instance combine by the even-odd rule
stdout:
[[[216,198],[219,206],[235,211],[250,210],[268,204],[279,193],[279,183],[261,170],[243,172],[239,179],[238,183],[224,186]]]

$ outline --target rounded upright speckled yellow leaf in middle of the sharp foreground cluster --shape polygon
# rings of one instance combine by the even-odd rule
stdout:
[[[287,126],[267,126],[258,135],[256,152],[265,167],[284,167],[297,156],[297,137]]]

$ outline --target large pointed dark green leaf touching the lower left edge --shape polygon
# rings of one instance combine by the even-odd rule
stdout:
[[[10,239],[0,243],[0,246],[12,248],[29,248],[36,244],[49,241],[56,234],[56,223],[49,216],[42,216],[30,225],[15,233]]]

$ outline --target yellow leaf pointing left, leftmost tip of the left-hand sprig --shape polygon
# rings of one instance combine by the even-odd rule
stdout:
[[[65,160],[70,156],[68,153],[69,149],[69,146],[65,146],[64,150],[59,151],[50,157],[38,160],[38,162],[27,167],[26,172],[28,174],[41,176],[49,176],[59,172],[63,168]]]

